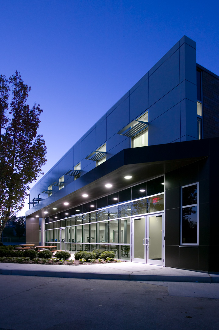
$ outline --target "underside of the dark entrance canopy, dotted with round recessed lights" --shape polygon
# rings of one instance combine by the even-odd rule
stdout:
[[[32,217],[39,215],[39,217],[43,217],[45,216],[45,211],[48,212],[48,215],[52,215],[55,212],[59,213],[66,209],[71,209],[78,205],[85,204],[100,197],[107,196],[119,190],[123,190],[135,184],[163,175],[167,172],[173,171],[190,163],[194,163],[195,161],[198,161],[202,158],[205,157],[123,165],[122,167],[119,167],[118,169],[108,173],[107,175],[85,185],[83,188],[70,193],[69,195],[40,210],[37,210],[30,216]],[[132,179],[124,179],[124,176],[126,175],[131,175]],[[107,183],[111,183],[112,187],[106,188],[105,184]],[[85,193],[88,195],[88,197],[86,198],[82,197],[82,195]],[[69,205],[64,206],[64,202],[69,203]],[[54,207],[57,208],[55,212],[54,210],[52,210]]]

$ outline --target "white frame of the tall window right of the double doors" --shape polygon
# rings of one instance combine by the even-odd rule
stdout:
[[[182,206],[182,189],[197,184],[197,204]],[[197,206],[197,243],[182,243],[182,209]],[[180,221],[180,245],[181,246],[198,246],[199,245],[199,182],[186,184],[181,187],[181,221]]]

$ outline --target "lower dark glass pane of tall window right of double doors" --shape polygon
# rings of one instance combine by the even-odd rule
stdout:
[[[182,243],[197,244],[197,206],[182,208]]]

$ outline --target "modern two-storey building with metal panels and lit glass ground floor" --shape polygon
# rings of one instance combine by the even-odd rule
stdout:
[[[219,77],[184,36],[31,189],[27,243],[218,271]]]

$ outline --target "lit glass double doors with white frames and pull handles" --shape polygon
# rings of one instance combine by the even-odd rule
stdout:
[[[164,214],[132,218],[134,262],[164,265]]]

